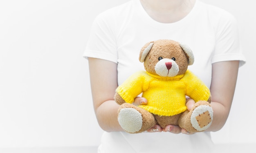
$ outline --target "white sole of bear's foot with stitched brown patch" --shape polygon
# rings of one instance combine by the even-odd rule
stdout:
[[[211,125],[213,109],[209,105],[197,106],[191,115],[191,124],[198,131],[204,131]]]

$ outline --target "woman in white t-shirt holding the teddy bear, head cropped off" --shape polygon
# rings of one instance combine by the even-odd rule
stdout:
[[[188,133],[179,126],[155,125],[147,132],[123,132],[117,121],[115,89],[132,73],[144,70],[141,47],[158,39],[187,44],[195,55],[189,66],[210,88],[214,111],[209,129]],[[209,131],[224,126],[234,96],[238,67],[245,63],[236,21],[226,11],[198,0],[131,0],[101,13],[94,21],[84,53],[89,60],[94,111],[104,131],[99,153],[210,151]],[[146,104],[135,98],[134,104]],[[187,100],[191,109],[195,102]],[[179,134],[183,133],[183,134]]]

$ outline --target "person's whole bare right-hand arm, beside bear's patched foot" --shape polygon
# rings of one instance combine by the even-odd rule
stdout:
[[[212,67],[213,122],[207,131],[220,130],[227,121],[236,88],[239,61],[217,62]]]

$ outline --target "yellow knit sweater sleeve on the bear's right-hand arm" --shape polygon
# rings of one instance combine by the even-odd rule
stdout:
[[[211,95],[209,88],[191,71],[186,71],[183,80],[186,84],[186,95],[195,102],[209,99]]]

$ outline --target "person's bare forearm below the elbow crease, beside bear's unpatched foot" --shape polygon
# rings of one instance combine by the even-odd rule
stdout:
[[[108,100],[95,109],[96,117],[101,129],[107,132],[123,131],[117,121],[118,108],[119,105],[114,100]]]

